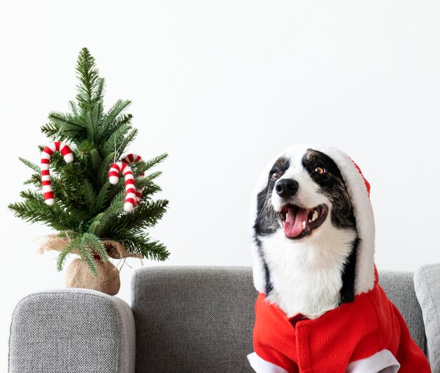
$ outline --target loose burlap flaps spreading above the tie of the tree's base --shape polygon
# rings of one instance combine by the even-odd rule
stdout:
[[[66,245],[70,242],[70,237],[58,237],[58,235],[47,235],[46,240],[39,247],[39,252],[41,254],[44,251],[55,250],[63,251]],[[102,240],[105,249],[107,250],[108,256],[113,259],[124,259],[124,258],[138,258],[142,259],[142,255],[130,254],[121,242],[114,240]],[[75,247],[70,251],[72,254],[79,254]],[[96,254],[93,252],[93,254]]]

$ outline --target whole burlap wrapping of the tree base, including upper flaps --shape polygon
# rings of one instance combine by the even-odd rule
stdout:
[[[45,251],[63,251],[70,242],[70,237],[58,237],[58,235],[47,235],[46,240],[39,247],[39,252]],[[113,259],[142,258],[141,255],[130,254],[121,242],[114,240],[102,240],[108,256]],[[72,254],[79,254],[77,249],[70,251]],[[121,282],[119,280],[119,271],[110,263],[102,261],[99,256],[91,251],[95,261],[98,275],[94,277],[89,266],[82,259],[74,259],[67,267],[65,272],[66,287],[80,287],[83,289],[93,289],[109,295],[116,295],[119,292]]]

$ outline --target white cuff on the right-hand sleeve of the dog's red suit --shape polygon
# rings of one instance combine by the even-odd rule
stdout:
[[[350,362],[347,373],[396,373],[400,368],[399,362],[391,351],[382,350],[369,358]]]

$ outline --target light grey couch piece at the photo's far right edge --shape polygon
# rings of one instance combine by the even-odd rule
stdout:
[[[440,372],[440,264],[420,267],[414,284],[423,310],[429,362],[432,372]]]

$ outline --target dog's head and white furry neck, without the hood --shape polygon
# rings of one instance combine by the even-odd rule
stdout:
[[[253,235],[265,292],[287,314],[317,315],[354,299],[356,220],[342,174],[325,153],[292,150],[276,160],[257,194]],[[309,299],[317,292],[327,303]]]

